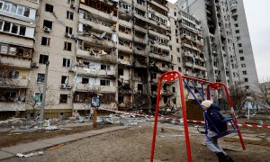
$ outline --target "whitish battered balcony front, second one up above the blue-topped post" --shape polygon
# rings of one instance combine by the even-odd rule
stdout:
[[[101,76],[101,77],[115,77],[114,70],[94,69],[88,67],[77,67],[76,73],[80,76]]]

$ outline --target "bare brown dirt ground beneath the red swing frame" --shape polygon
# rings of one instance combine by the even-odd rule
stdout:
[[[155,149],[156,161],[179,162],[187,161],[184,142],[184,132],[181,126],[168,124],[159,125]],[[144,162],[149,161],[152,124],[130,127],[125,130],[116,130],[91,138],[80,139],[66,143],[64,146],[52,150],[44,150],[38,157],[13,157],[4,161],[93,161],[93,162]],[[260,130],[269,137],[269,130]],[[244,133],[254,133],[256,129],[243,129]],[[260,133],[260,132],[259,132]],[[193,161],[218,161],[218,158],[208,148],[202,145],[204,136],[190,127],[190,140]],[[220,143],[225,151],[236,162],[270,161],[270,147],[247,144],[246,150],[241,150],[238,142]]]

